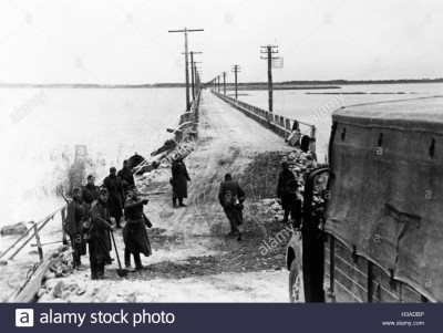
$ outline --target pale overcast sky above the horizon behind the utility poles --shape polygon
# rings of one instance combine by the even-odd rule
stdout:
[[[443,76],[442,0],[0,0],[0,82],[184,82],[185,27],[204,81]]]

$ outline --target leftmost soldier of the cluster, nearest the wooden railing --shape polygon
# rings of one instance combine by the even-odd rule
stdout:
[[[82,266],[81,257],[86,254],[86,243],[83,240],[82,227],[87,218],[89,212],[80,198],[80,188],[74,188],[72,201],[68,205],[66,215],[66,231],[71,238],[72,259],[74,269],[83,271],[85,268]]]

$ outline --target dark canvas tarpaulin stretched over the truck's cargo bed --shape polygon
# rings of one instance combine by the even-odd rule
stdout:
[[[443,301],[443,97],[332,115],[326,231]]]

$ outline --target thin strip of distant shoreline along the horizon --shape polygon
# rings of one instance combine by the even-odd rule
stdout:
[[[297,90],[297,89],[340,89],[340,85],[360,84],[418,84],[418,83],[443,83],[442,79],[404,79],[404,80],[368,80],[368,81],[285,81],[275,82],[275,90]],[[214,85],[207,84],[208,87]],[[220,83],[220,89],[223,84]],[[162,87],[185,87],[184,83],[155,83],[155,84],[31,84],[31,83],[1,83],[0,87],[6,89],[162,89]],[[226,84],[231,90],[233,83]],[[267,82],[244,82],[238,84],[238,90],[267,90]]]

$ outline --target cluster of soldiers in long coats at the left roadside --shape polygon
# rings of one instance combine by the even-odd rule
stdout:
[[[144,269],[140,254],[148,257],[152,253],[144,227],[145,225],[152,227],[143,214],[143,206],[147,202],[147,199],[138,198],[134,177],[126,160],[119,174],[115,167],[111,167],[110,175],[100,188],[95,185],[94,176],[87,176],[87,184],[73,189],[72,201],[68,205],[65,231],[71,238],[74,268],[85,269],[81,257],[86,254],[87,243],[91,279],[104,278],[104,267],[113,261],[111,232],[122,228],[121,220],[124,216],[125,267],[134,271],[131,267],[132,254],[135,270]]]

